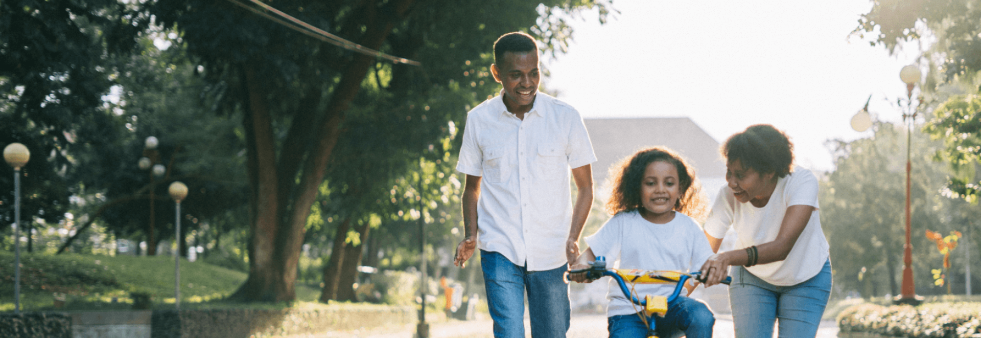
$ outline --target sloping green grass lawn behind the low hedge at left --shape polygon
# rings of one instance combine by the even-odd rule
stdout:
[[[132,295],[150,296],[153,309],[174,305],[174,256],[21,253],[21,310],[129,310]],[[181,309],[242,308],[222,301],[246,274],[181,259]],[[320,290],[296,285],[297,304],[317,307]],[[113,302],[113,299],[116,302]],[[249,305],[249,308],[256,306]],[[258,307],[286,308],[288,305]],[[0,252],[0,311],[14,310],[14,253]]]

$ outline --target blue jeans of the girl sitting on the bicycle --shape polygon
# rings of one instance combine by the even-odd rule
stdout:
[[[683,291],[684,292],[684,291]],[[715,315],[704,303],[688,297],[678,297],[668,304],[668,312],[663,317],[651,316],[654,328],[660,338],[711,338]],[[614,315],[606,319],[610,338],[645,338],[647,325],[641,317],[634,314]]]

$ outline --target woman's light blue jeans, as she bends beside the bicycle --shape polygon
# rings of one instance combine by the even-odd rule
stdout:
[[[792,286],[776,286],[759,279],[743,266],[730,270],[729,300],[736,337],[814,337],[831,295],[831,260],[817,275]]]

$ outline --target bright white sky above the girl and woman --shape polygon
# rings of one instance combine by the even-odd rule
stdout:
[[[758,123],[787,132],[798,163],[834,169],[829,139],[871,136],[850,121],[869,111],[900,122],[900,69],[917,45],[890,56],[849,36],[867,0],[616,0],[600,26],[577,22],[575,42],[544,88],[585,118],[687,116],[716,141]],[[905,97],[904,97],[905,98]]]

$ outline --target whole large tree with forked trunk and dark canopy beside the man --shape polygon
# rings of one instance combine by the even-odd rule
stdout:
[[[161,1],[147,10],[181,30],[187,51],[206,68],[225,113],[241,111],[249,177],[249,277],[235,298],[294,299],[293,282],[311,206],[334,159],[348,113],[357,107],[372,68],[390,72],[385,87],[394,111],[422,109],[435,88],[460,79],[464,60],[489,52],[497,35],[532,28],[546,48],[564,47],[571,28],[563,11],[605,5],[594,1],[458,3],[299,0],[275,5],[295,18],[374,50],[424,62],[422,68],[381,64],[242,10],[238,2]],[[563,11],[553,13],[550,9]],[[383,78],[383,79],[384,79]],[[474,99],[479,99],[475,97]],[[457,108],[459,109],[459,107]],[[462,109],[456,112],[462,116]],[[412,131],[393,130],[411,136]]]

